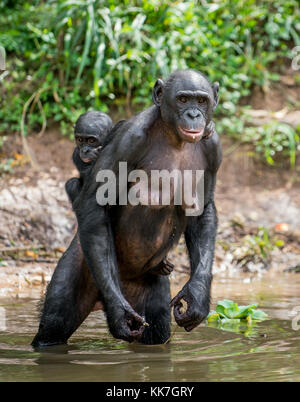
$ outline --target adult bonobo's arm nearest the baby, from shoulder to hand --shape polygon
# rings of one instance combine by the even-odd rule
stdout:
[[[111,140],[101,150],[91,173],[84,180],[83,189],[73,208],[77,215],[80,243],[104,304],[107,322],[112,335],[133,341],[141,336],[144,319],[124,298],[119,282],[114,239],[108,208],[96,201],[100,170],[118,172],[119,161],[128,163],[128,170],[142,157],[146,148],[147,124],[155,108],[150,108],[133,120],[117,125]]]

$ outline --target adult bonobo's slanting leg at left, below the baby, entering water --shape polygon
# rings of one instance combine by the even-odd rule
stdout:
[[[76,234],[48,285],[39,330],[32,346],[66,343],[93,309],[98,295]]]

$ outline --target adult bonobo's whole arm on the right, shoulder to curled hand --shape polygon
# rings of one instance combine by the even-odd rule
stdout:
[[[222,159],[217,133],[214,131],[211,138],[204,140],[201,145],[209,166],[204,173],[205,206],[202,215],[189,218],[185,230],[185,241],[190,257],[191,277],[171,301],[171,306],[174,306],[175,320],[186,331],[194,329],[209,313],[211,269],[217,231],[214,190],[216,173]],[[187,302],[185,312],[180,312],[182,299]]]

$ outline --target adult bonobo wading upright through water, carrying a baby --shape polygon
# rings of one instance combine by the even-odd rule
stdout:
[[[50,283],[55,295],[51,314],[43,315],[33,345],[66,342],[92,310],[95,297],[104,305],[112,335],[129,342],[166,342],[170,306],[174,306],[177,324],[187,331],[207,316],[217,227],[214,190],[221,163],[219,138],[211,121],[218,88],[197,71],[176,71],[165,82],[156,82],[154,106],[112,130],[111,140],[104,145],[73,205],[94,282],[85,269],[77,288],[72,282],[64,285],[61,270],[59,278]],[[101,184],[96,176],[99,171],[113,171],[120,182],[123,172],[118,171],[119,162],[127,162],[128,172],[139,169],[149,176],[151,171],[163,169],[204,171],[201,215],[187,216],[187,206],[174,202],[163,206],[99,205],[96,194]],[[169,277],[153,275],[152,269],[182,233],[191,276],[170,303]],[[69,297],[61,291],[62,286]],[[185,312],[181,311],[182,300],[187,302]]]

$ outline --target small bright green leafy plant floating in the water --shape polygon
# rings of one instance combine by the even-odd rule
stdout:
[[[232,300],[219,301],[215,311],[211,311],[207,317],[208,326],[224,331],[242,332],[245,336],[253,333],[253,326],[259,321],[264,321],[268,315],[257,309],[258,304],[238,306]]]

